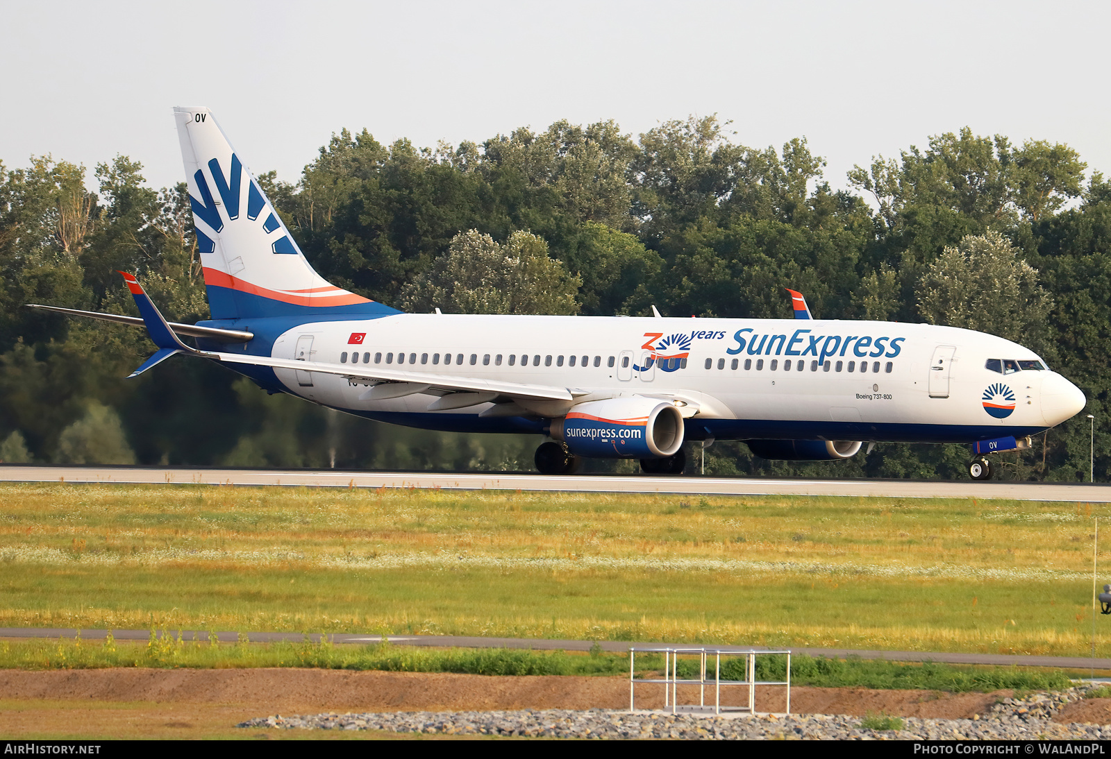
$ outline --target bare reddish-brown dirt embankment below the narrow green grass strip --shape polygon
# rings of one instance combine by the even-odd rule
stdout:
[[[782,711],[782,688],[757,691],[757,709]],[[791,711],[905,717],[961,718],[984,714],[994,694],[863,688],[791,689]],[[615,677],[484,677],[423,672],[353,672],[326,669],[91,669],[0,670],[0,698],[160,702],[233,706],[243,718],[320,711],[447,711],[488,709],[629,708],[629,680]],[[697,688],[680,688],[680,704],[697,704]],[[705,699],[713,702],[713,688]],[[722,704],[747,704],[743,687],[722,688]],[[1111,721],[1111,699],[1092,699],[1073,709],[1089,719]],[[660,685],[637,686],[638,708],[661,708]],[[1079,712],[1078,712],[1079,714]],[[1099,715],[1097,719],[1095,716]]]

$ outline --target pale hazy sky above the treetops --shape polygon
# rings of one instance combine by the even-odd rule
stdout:
[[[183,179],[170,109],[208,105],[296,181],[332,132],[481,141],[558,119],[634,138],[717,113],[805,136],[825,176],[969,125],[1111,173],[1111,3],[0,0],[0,160],[117,153]]]

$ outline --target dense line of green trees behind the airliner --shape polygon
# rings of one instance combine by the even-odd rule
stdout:
[[[833,190],[805,139],[750,148],[691,117],[637,139],[612,121],[560,121],[436,148],[343,130],[296,182],[259,181],[321,275],[402,308],[789,318],[790,286],[822,318],[1015,340],[1084,391],[1105,478],[1111,183],[1085,176],[1068,145],[969,129],[864,163]],[[168,318],[206,318],[192,216],[184,183],[152,189],[128,156],[98,164],[92,188],[86,174],[49,155],[0,162],[0,459],[530,468],[536,439],[388,428],[206,362],[123,381],[151,352],[142,331],[22,306],[133,314],[124,270]],[[1087,422],[1001,455],[1000,476],[1085,478]],[[705,469],[948,478],[968,457],[880,444],[792,464],[719,442]]]

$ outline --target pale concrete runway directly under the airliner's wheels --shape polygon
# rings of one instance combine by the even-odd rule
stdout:
[[[502,473],[364,472],[343,469],[223,469],[128,466],[0,465],[0,482],[250,485],[446,490],[660,493],[673,495],[797,495],[885,498],[1005,498],[1111,503],[1111,486],[1087,483],[983,483],[921,479],[777,479]]]

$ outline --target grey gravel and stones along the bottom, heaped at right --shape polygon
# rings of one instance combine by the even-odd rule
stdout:
[[[873,730],[860,717],[791,715],[698,717],[660,712],[588,709],[522,709],[514,711],[410,711],[394,714],[322,714],[259,717],[242,728],[388,730],[444,735],[498,735],[546,738],[688,738],[748,740],[800,738],[853,740],[1029,740],[1038,738],[1108,740],[1111,726],[1053,722],[1063,707],[1083,698],[1087,687],[1008,698],[973,719],[902,719],[899,730]]]

